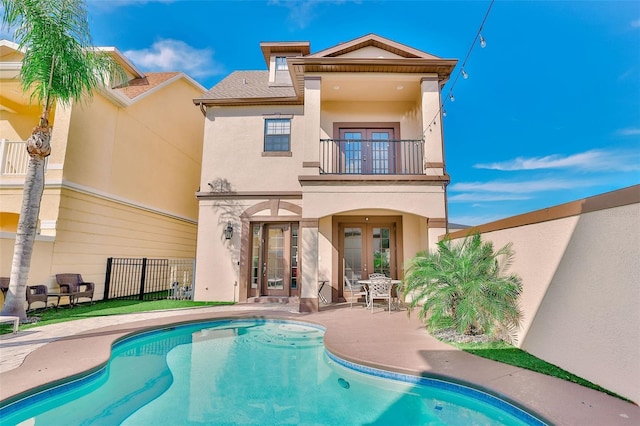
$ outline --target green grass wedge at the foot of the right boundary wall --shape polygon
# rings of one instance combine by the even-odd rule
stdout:
[[[563,370],[558,366],[555,366],[539,358],[536,358],[530,353],[523,351],[522,349],[516,348],[515,346],[512,346],[503,341],[489,342],[489,343],[454,343],[454,342],[447,342],[447,343],[453,346],[456,346],[457,348],[460,348],[465,352],[469,352],[470,354],[477,355],[482,358],[492,359],[494,361],[502,362],[504,364],[514,365],[516,367],[532,370],[537,373],[542,373],[548,376],[557,377],[559,379],[577,383],[581,386],[595,389],[597,391],[604,392],[616,398],[629,401],[628,399],[623,398],[614,392],[604,389],[603,387],[598,386],[594,383],[591,383],[588,380],[585,380],[581,377],[578,377],[575,374],[569,373],[568,371]]]

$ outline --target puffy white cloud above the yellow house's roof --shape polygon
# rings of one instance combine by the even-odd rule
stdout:
[[[213,61],[213,50],[197,49],[180,40],[160,40],[150,48],[127,50],[124,55],[145,71],[184,71],[194,78],[222,72]]]

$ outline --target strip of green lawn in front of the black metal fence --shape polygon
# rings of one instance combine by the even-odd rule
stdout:
[[[48,324],[73,321],[82,318],[103,317],[108,315],[131,314],[136,312],[150,312],[164,309],[194,308],[198,306],[233,305],[231,302],[192,302],[191,300],[108,300],[94,304],[83,303],[73,309],[62,305],[54,308],[30,311],[27,318],[37,322],[21,324],[20,330],[27,330]],[[12,324],[0,324],[0,334],[12,332]]]

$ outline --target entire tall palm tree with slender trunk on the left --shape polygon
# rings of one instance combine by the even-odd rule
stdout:
[[[27,140],[30,159],[24,183],[11,264],[11,278],[2,315],[26,319],[24,302],[44,190],[44,162],[51,153],[49,115],[56,103],[70,105],[90,97],[108,81],[126,81],[124,71],[107,52],[93,49],[83,0],[0,0],[2,23],[14,29],[24,52],[22,90],[42,107]]]

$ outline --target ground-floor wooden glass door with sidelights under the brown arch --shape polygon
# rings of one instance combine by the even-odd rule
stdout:
[[[253,224],[250,295],[295,296],[298,290],[298,224]]]

